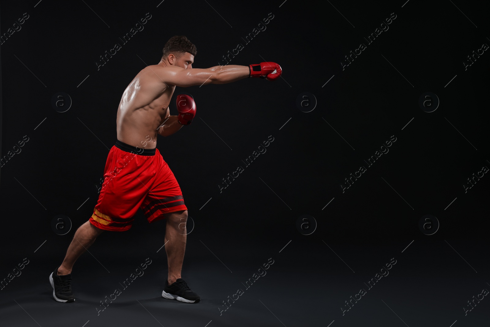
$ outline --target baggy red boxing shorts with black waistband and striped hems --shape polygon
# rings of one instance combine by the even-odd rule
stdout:
[[[131,228],[141,208],[148,220],[187,210],[180,186],[158,149],[141,149],[116,141],[104,168],[104,181],[89,221],[105,230]]]

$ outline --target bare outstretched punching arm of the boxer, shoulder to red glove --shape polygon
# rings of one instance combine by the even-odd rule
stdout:
[[[169,84],[188,87],[207,84],[226,84],[246,78],[250,75],[248,66],[226,65],[211,68],[183,69],[172,67],[165,79]]]

